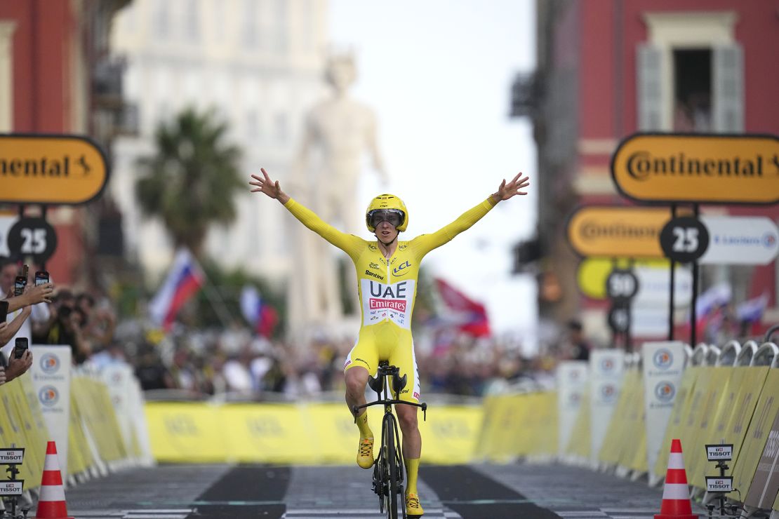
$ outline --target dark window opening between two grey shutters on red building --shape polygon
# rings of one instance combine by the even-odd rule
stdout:
[[[711,131],[711,50],[681,49],[674,58],[674,132]]]

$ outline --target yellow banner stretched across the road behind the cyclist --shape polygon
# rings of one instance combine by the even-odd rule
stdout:
[[[383,409],[368,423],[381,435]],[[358,431],[344,404],[225,404],[146,402],[152,454],[157,461],[350,464]],[[467,463],[476,454],[482,410],[431,405],[418,413],[426,463]],[[505,446],[506,444],[502,444]]]

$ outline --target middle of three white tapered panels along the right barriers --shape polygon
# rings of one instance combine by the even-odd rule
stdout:
[[[590,457],[597,461],[608,423],[619,400],[625,371],[625,352],[596,349],[590,352]]]

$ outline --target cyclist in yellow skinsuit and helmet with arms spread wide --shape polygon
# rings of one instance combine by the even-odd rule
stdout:
[[[400,376],[407,375],[406,388],[398,395],[400,400],[419,402],[419,377],[411,338],[411,312],[417,293],[419,264],[425,254],[446,244],[478,222],[498,202],[514,195],[527,195],[528,177],[517,174],[512,181],[501,182],[484,202],[469,209],[453,223],[432,234],[422,234],[409,241],[399,241],[398,234],[407,229],[408,211],[400,198],[379,195],[365,212],[365,224],[375,234],[375,241],[363,240],[353,234],[342,233],[303,205],[295,202],[281,190],[278,181],[272,181],[263,168],[262,177],[252,175],[252,192],[262,192],[275,198],[292,215],[319,234],[330,244],[349,255],[357,269],[358,290],[362,310],[358,340],[344,363],[346,402],[349,409],[365,404],[365,386],[368,376],[376,373],[379,360],[387,360],[400,368]],[[406,510],[410,517],[420,517],[422,510],[417,492],[417,474],[422,440],[417,423],[417,408],[399,405],[395,409],[403,432],[403,452],[408,475]],[[368,412],[363,409],[357,417],[360,430],[357,463],[362,468],[373,465],[373,433],[368,427]]]

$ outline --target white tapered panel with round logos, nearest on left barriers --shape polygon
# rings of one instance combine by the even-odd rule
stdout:
[[[49,439],[57,443],[62,479],[68,475],[68,428],[70,418],[69,345],[31,345],[33,366],[30,377],[41,402]]]

